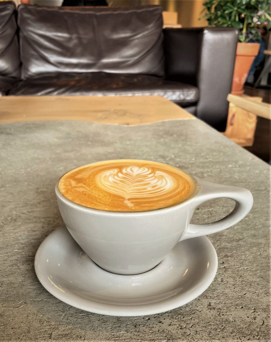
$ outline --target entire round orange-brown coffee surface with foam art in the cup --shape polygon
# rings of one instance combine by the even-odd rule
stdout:
[[[105,211],[146,211],[190,198],[197,184],[184,171],[147,160],[109,160],[64,174],[60,193],[70,201]]]

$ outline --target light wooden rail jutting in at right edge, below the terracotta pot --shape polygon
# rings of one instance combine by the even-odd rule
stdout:
[[[259,102],[253,97],[237,96],[233,94],[229,94],[227,100],[251,114],[271,120],[271,105],[268,103]]]

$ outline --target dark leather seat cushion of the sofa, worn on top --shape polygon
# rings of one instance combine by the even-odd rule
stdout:
[[[186,105],[198,100],[198,90],[190,84],[148,75],[104,72],[29,78],[10,91],[10,95],[161,95]]]

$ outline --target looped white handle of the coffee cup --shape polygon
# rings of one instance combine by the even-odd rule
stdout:
[[[193,209],[214,198],[231,198],[235,201],[233,211],[223,219],[207,224],[189,224],[179,241],[197,236],[220,232],[240,222],[250,211],[253,197],[249,190],[238,186],[211,183],[196,178],[200,185],[199,193],[193,198]]]

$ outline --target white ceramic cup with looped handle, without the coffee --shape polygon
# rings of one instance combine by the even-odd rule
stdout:
[[[138,274],[159,264],[177,242],[222,231],[241,221],[250,211],[253,197],[247,189],[192,178],[199,185],[199,191],[192,198],[171,207],[141,212],[80,206],[60,193],[59,182],[55,192],[68,231],[96,264],[117,274]],[[221,197],[235,201],[229,215],[209,224],[190,224],[197,206]]]

